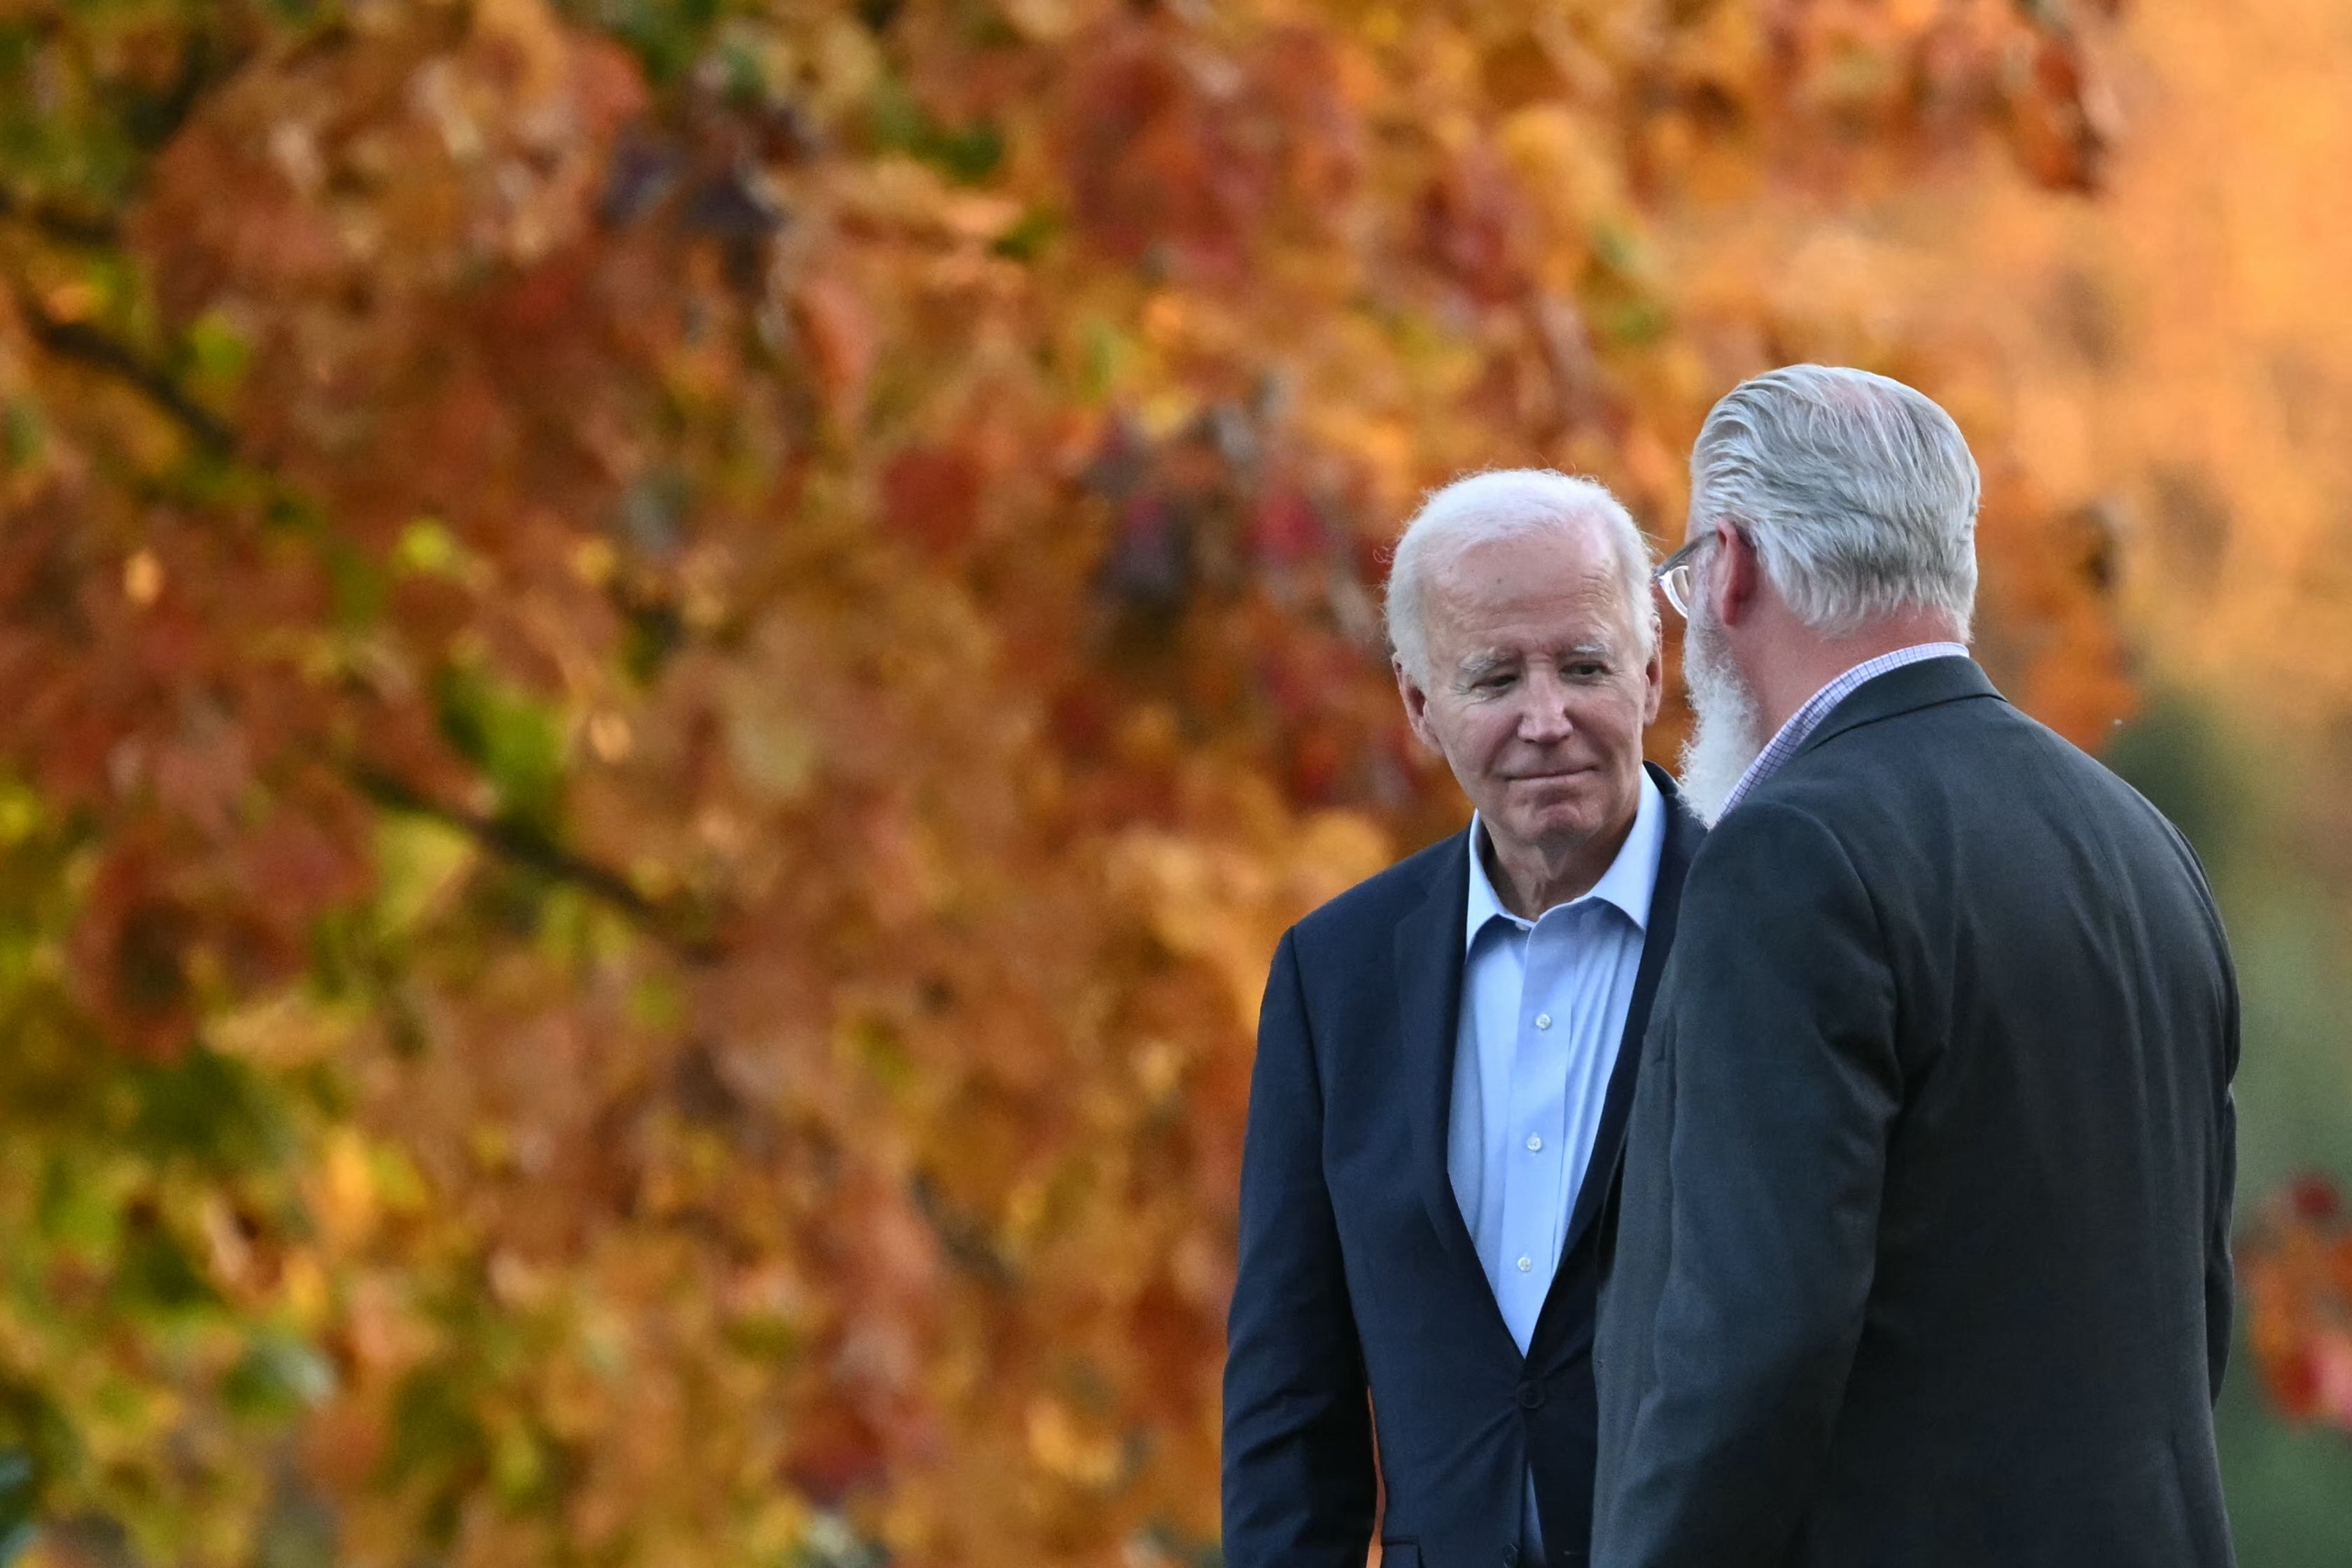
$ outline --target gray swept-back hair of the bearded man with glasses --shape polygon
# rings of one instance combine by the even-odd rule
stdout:
[[[1731,522],[1816,632],[1976,614],[1983,482],[1959,425],[1900,381],[1790,364],[1731,388],[1691,447],[1691,527]]]

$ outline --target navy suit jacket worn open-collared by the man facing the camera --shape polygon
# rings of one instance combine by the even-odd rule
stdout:
[[[1705,830],[1672,780],[1658,889],[1599,1140],[1522,1356],[1446,1175],[1470,835],[1298,922],[1275,952],[1242,1154],[1225,1352],[1228,1568],[1519,1568],[1526,1474],[1552,1563],[1592,1530],[1595,1225],[1682,875]]]

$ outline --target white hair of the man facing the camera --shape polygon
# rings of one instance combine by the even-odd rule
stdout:
[[[1550,468],[1496,468],[1430,491],[1404,524],[1388,567],[1388,646],[1404,672],[1430,684],[1428,595],[1430,571],[1489,538],[1566,534],[1597,520],[1616,550],[1618,588],[1635,625],[1642,658],[1658,646],[1658,607],[1649,592],[1651,555],[1642,529],[1606,484]]]

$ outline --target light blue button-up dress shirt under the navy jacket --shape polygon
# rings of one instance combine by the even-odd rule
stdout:
[[[1496,896],[1484,835],[1472,818],[1446,1175],[1510,1338],[1526,1354],[1632,1009],[1665,846],[1665,797],[1644,771],[1642,804],[1616,860],[1583,898],[1534,922]],[[1522,1542],[1541,1563],[1534,1476]]]

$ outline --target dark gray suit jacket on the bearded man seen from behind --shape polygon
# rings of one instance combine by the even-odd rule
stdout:
[[[1597,1340],[1597,1568],[2213,1568],[2237,983],[2204,875],[1964,658],[1691,863]]]

